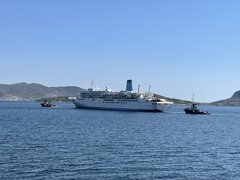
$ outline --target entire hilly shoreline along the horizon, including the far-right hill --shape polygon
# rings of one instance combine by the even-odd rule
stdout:
[[[69,97],[77,97],[83,90],[77,86],[65,87],[47,87],[37,83],[15,83],[0,84],[0,101],[37,101],[48,99],[52,102],[71,102]],[[154,94],[156,98],[163,98],[174,104],[188,105],[191,101],[169,98]],[[200,105],[217,105],[217,106],[240,106],[240,91],[236,91],[229,99],[220,100],[210,103],[199,103]]]

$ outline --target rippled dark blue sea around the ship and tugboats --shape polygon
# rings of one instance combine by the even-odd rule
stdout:
[[[0,102],[0,179],[240,179],[240,107],[165,113]]]

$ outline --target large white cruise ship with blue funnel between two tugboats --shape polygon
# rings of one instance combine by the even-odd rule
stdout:
[[[154,98],[150,90],[149,93],[133,92],[132,80],[127,81],[126,91],[113,92],[109,88],[105,91],[93,88],[84,90],[73,103],[80,109],[149,112],[163,112],[173,104],[165,99]]]

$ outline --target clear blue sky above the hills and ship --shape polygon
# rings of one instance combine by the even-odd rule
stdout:
[[[91,81],[212,102],[240,90],[238,0],[0,0],[0,83]]]

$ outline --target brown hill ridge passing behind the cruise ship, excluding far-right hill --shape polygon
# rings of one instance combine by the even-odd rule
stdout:
[[[68,97],[78,96],[83,90],[77,86],[48,87],[38,83],[20,82],[15,84],[0,84],[0,100],[2,101],[21,101],[21,100],[42,100],[44,98],[67,101]],[[189,104],[190,101],[168,98],[154,94],[157,98],[164,98],[175,104]]]

